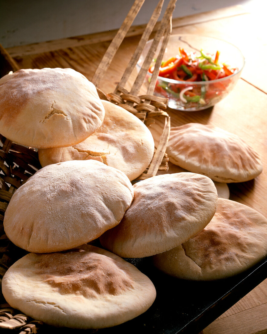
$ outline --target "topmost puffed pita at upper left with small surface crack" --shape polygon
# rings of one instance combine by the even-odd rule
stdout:
[[[22,145],[80,143],[104,115],[96,87],[71,68],[20,69],[0,81],[0,133]]]

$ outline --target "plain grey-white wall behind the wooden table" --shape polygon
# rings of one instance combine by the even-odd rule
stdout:
[[[38,43],[117,29],[134,0],[0,0],[0,43]],[[133,25],[146,23],[158,0],[145,0]],[[262,11],[266,0],[177,0],[173,17],[242,4]],[[166,8],[165,0],[162,12]]]

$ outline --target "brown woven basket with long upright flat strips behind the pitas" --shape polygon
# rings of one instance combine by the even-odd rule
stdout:
[[[103,59],[101,60],[93,78],[91,81],[95,84],[98,90],[98,94],[101,99],[108,100],[115,103],[129,112],[133,113],[145,125],[149,125],[154,122],[158,116],[164,116],[165,126],[163,128],[159,144],[155,149],[154,156],[151,160],[147,170],[141,174],[138,179],[132,181],[135,183],[139,180],[156,175],[158,170],[167,170],[167,156],[165,154],[166,144],[168,141],[170,130],[170,118],[164,111],[166,109],[167,99],[159,98],[153,95],[154,87],[156,84],[156,73],[161,64],[162,56],[166,47],[168,37],[171,33],[171,15],[175,7],[176,0],[171,0],[161,20],[159,28],[154,36],[154,43],[151,50],[148,52],[141,70],[139,71],[136,80],[132,86],[131,91],[127,91],[124,86],[139,59],[141,51],[148,40],[155,23],[159,17],[162,1],[159,1],[155,8],[150,21],[148,22],[144,33],[141,36],[140,42],[136,48],[135,53],[126,68],[124,75],[121,78],[120,83],[116,87],[113,93],[105,94],[98,89],[99,82],[102,76],[105,74],[109,67],[115,53],[117,52],[122,40],[124,39],[127,31],[133,23],[135,16],[141,8],[144,0],[135,0],[130,12],[124,20],[117,35],[112,40],[109,48],[107,49]],[[164,36],[162,47],[157,61],[155,64],[155,75],[152,75],[147,94],[138,96],[138,92],[144,81],[145,74],[154,56],[155,50],[158,46],[160,39]],[[8,74],[9,71],[16,71],[20,69],[17,63],[10,57],[7,51],[0,45],[0,77]],[[2,277],[7,269],[22,256],[28,252],[15,246],[4,234],[3,219],[7,205],[16,191],[22,184],[24,184],[30,176],[32,176],[38,169],[41,168],[38,160],[38,153],[34,148],[18,145],[10,141],[9,139],[0,135],[1,148],[0,148],[0,283]],[[42,325],[40,321],[36,321],[21,314],[19,310],[11,308],[6,301],[2,293],[0,292],[0,330],[14,330],[16,333],[36,333],[37,329]],[[8,332],[9,332],[8,331]],[[94,331],[92,331],[94,332]]]

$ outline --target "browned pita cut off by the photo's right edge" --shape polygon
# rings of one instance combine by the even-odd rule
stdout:
[[[153,262],[163,272],[189,280],[216,280],[252,267],[267,254],[267,219],[256,210],[218,199],[208,225]]]

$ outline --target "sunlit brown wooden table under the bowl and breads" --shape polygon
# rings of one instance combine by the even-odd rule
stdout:
[[[99,88],[104,92],[112,92],[116,87],[142,31],[143,26],[130,29],[105,78],[100,82]],[[71,67],[90,80],[115,33],[97,33],[8,48],[7,51],[20,68]],[[172,33],[219,37],[237,45],[245,55],[242,78],[229,96],[214,108],[190,113],[167,111],[171,126],[189,122],[217,125],[237,134],[259,153],[264,165],[263,172],[255,180],[230,184],[230,199],[246,204],[267,217],[267,72],[264,64],[267,46],[264,20],[247,13],[241,6],[234,6],[173,19]],[[264,65],[260,64],[261,59]],[[267,333],[266,315],[267,280],[212,322],[203,333]]]

